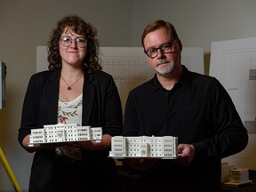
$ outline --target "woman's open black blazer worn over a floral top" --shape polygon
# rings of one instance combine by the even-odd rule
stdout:
[[[59,83],[60,69],[31,76],[22,108],[18,134],[20,145],[31,129],[43,128],[44,124],[57,124]],[[82,125],[100,126],[103,134],[121,135],[123,116],[120,97],[113,77],[103,71],[93,74],[84,72]],[[90,163],[100,159],[100,164],[106,163],[108,167],[108,162],[113,161],[108,157],[107,150],[84,150],[83,153],[86,156],[84,159],[90,160]],[[31,190],[51,188],[54,157],[54,149],[36,151],[30,175]]]

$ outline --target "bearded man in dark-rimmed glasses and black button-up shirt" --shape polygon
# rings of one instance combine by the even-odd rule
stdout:
[[[129,93],[123,136],[175,136],[180,155],[124,163],[139,171],[145,191],[220,191],[221,158],[248,143],[234,103],[216,78],[181,64],[182,44],[170,22],[149,23],[141,43],[156,75]]]

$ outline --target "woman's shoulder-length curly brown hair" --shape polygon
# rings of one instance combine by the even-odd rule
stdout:
[[[47,43],[48,52],[48,69],[61,68],[60,57],[60,36],[66,27],[71,27],[78,35],[85,36],[87,40],[87,52],[84,58],[84,70],[92,73],[97,70],[102,70],[100,54],[100,43],[97,37],[97,29],[91,23],[85,22],[77,15],[68,15],[57,23],[57,27],[52,29],[50,41]]]

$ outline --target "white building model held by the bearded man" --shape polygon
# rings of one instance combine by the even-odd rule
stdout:
[[[109,156],[115,159],[122,159],[124,157],[175,159],[178,157],[177,146],[178,138],[172,136],[115,136],[111,139]]]

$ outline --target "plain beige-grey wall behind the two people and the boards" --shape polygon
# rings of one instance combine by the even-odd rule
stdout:
[[[29,77],[36,72],[36,45],[46,45],[57,20],[77,13],[99,30],[101,46],[140,46],[145,25],[170,20],[183,46],[204,47],[209,72],[212,41],[256,36],[253,0],[0,0],[0,60],[7,66],[6,108],[0,110],[0,147],[20,187],[28,190],[33,154],[17,133]],[[47,63],[45,63],[47,65]],[[12,191],[0,166],[0,191]]]

